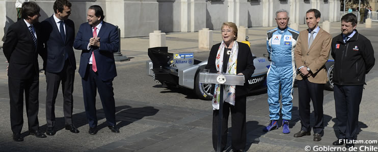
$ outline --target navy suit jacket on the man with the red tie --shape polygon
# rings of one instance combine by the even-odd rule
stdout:
[[[75,49],[82,50],[79,66],[80,77],[85,77],[89,58],[93,51],[98,76],[103,81],[114,79],[117,76],[117,71],[113,53],[116,53],[119,47],[117,27],[102,21],[102,26],[97,34],[97,37],[100,37],[100,47],[92,47],[92,49],[88,50],[89,39],[91,39],[91,37],[93,37],[91,25],[87,22],[80,25],[73,43]]]

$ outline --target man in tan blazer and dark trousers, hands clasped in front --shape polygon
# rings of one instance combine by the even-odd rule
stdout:
[[[326,62],[331,48],[331,35],[318,26],[320,12],[310,9],[306,12],[308,29],[299,34],[294,49],[295,65],[298,68],[296,80],[299,94],[299,116],[301,131],[294,137],[311,135],[310,99],[314,107],[314,141],[320,141],[323,134],[323,88],[327,82]]]

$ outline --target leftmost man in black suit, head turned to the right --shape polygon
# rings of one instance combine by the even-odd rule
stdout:
[[[14,141],[23,141],[23,92],[25,92],[26,112],[29,132],[44,138],[38,123],[38,53],[44,58],[40,40],[40,8],[34,2],[25,2],[21,8],[22,19],[8,28],[4,43],[4,55],[9,62],[8,86],[10,99],[11,128]],[[42,54],[41,54],[42,53]]]

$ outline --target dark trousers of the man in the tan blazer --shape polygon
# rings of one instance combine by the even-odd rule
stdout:
[[[301,130],[311,131],[310,127],[310,100],[314,108],[314,134],[322,134],[323,125],[323,89],[324,84],[311,83],[307,79],[297,81],[299,94],[299,116]]]

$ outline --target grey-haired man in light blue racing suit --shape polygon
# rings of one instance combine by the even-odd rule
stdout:
[[[287,27],[289,13],[286,10],[276,12],[278,27],[266,33],[266,48],[269,53],[268,60],[272,61],[267,73],[269,125],[264,131],[278,129],[277,121],[280,119],[280,94],[282,94],[282,132],[287,134],[289,120],[291,120],[292,92],[296,76],[294,62],[294,48],[299,32]],[[280,91],[281,88],[281,91]]]

